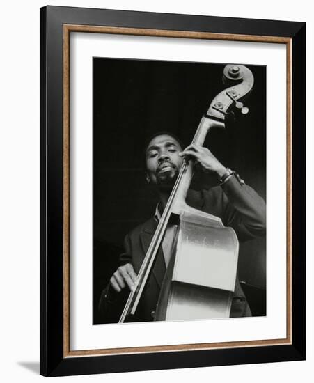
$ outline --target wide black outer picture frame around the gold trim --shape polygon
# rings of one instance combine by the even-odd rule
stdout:
[[[229,40],[290,42],[290,344],[69,357],[64,302],[64,26],[221,33]],[[237,36],[237,37],[235,37]],[[306,358],[306,24],[261,19],[47,6],[40,9],[40,374],[45,376],[193,368]]]

